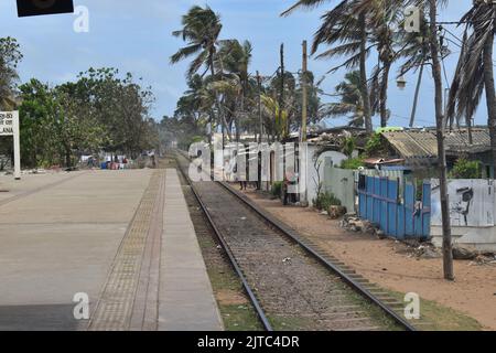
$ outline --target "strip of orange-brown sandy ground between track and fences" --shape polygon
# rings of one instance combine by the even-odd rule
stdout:
[[[314,210],[283,207],[278,200],[254,191],[247,194],[370,281],[390,290],[417,292],[421,298],[466,313],[487,330],[496,330],[496,266],[456,260],[456,279],[449,282],[442,278],[441,259],[408,257],[402,243],[347,232],[339,227],[338,221]]]

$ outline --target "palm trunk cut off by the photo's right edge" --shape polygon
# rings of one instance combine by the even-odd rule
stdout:
[[[493,69],[493,41],[494,32],[492,32],[484,44],[484,86],[486,90],[487,103],[487,125],[490,135],[490,149],[493,151],[493,170],[496,165],[496,97],[494,87],[494,69]]]

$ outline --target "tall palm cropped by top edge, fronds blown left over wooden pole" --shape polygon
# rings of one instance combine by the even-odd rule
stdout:
[[[328,1],[328,0],[327,0]],[[289,15],[299,8],[315,8],[326,0],[300,0],[282,15]],[[367,131],[373,131],[370,97],[367,86],[367,56],[370,53],[371,45],[368,45],[367,33],[367,12],[356,11],[360,0],[343,0],[331,11],[322,17],[322,25],[314,36],[312,54],[319,51],[322,44],[331,45],[330,50],[324,51],[317,58],[328,58],[335,56],[347,56],[346,61],[336,71],[343,66],[347,68],[359,67],[360,74],[360,95],[364,101],[364,120]]]

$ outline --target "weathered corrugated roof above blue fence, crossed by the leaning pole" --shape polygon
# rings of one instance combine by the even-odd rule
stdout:
[[[382,132],[382,136],[398,151],[401,158],[436,159],[438,139],[435,130],[405,130]],[[466,129],[446,131],[446,151],[477,153],[490,149],[490,137],[487,128],[474,128],[473,143],[468,143]]]

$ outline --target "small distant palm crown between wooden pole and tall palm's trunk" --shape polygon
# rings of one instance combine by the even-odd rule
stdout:
[[[360,94],[360,73],[349,72],[345,79],[336,86],[336,96],[341,97],[338,103],[325,104],[321,116],[343,117],[348,116],[349,126],[364,126],[364,103]]]

